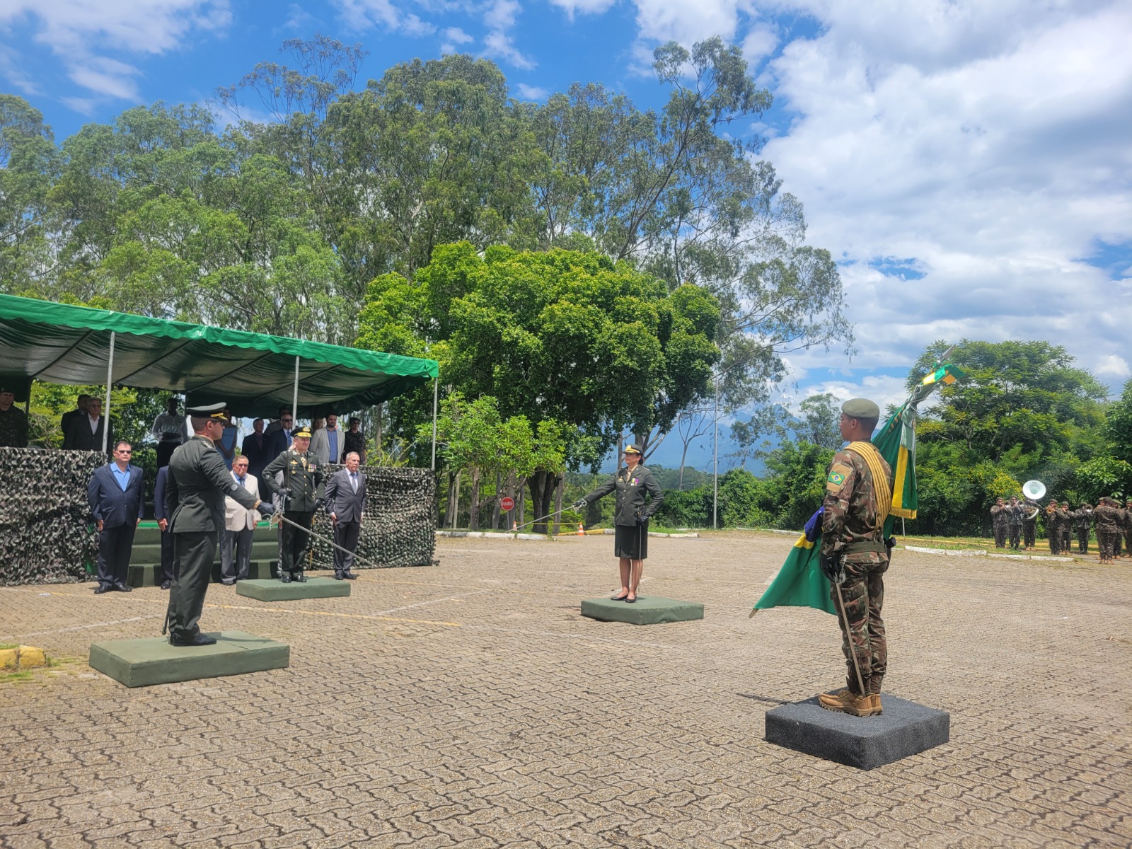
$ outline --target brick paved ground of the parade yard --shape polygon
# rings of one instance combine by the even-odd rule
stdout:
[[[842,676],[832,617],[747,618],[788,546],[653,540],[644,594],[706,603],[653,627],[578,616],[616,589],[602,537],[441,540],[350,599],[213,586],[206,629],[290,669],[139,689],[85,652],[155,635],[161,590],[0,590],[0,642],[75,659],[0,684],[0,846],[1132,843],[1129,567],[898,552],[885,683],[952,741],[858,772],[762,739]]]

